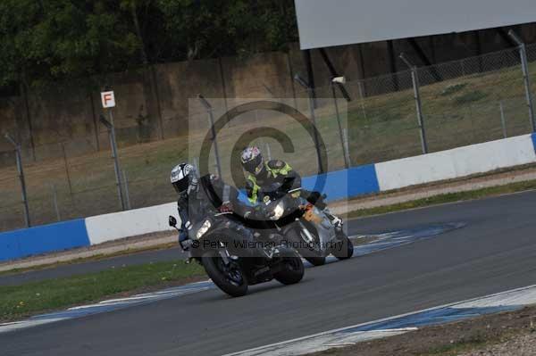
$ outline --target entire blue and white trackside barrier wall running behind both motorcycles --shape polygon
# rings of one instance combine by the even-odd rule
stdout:
[[[303,178],[303,186],[314,189],[318,180],[322,193],[335,201],[532,162],[536,134],[331,171]],[[168,215],[177,216],[176,203],[0,233],[0,261],[172,230]]]

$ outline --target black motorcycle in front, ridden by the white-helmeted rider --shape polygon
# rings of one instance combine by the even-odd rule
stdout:
[[[169,217],[169,225],[180,232],[173,216]],[[263,249],[244,249],[236,243],[245,233],[244,229],[232,212],[216,213],[188,228],[188,240],[180,246],[205,268],[216,286],[233,297],[247,294],[248,286],[272,279],[293,285],[303,278],[304,264],[295,250],[277,244],[266,244]],[[257,253],[240,256],[251,251]]]

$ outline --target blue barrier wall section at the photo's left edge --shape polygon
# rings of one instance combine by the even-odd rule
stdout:
[[[89,246],[85,219],[0,234],[0,261]]]

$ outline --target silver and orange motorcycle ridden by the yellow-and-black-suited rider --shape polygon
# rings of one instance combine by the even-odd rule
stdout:
[[[262,192],[264,209],[272,211],[269,219],[296,246],[298,253],[314,266],[324,264],[330,254],[339,260],[352,257],[354,245],[345,234],[342,221],[302,197],[302,188],[286,192],[281,186],[284,184],[275,184]]]

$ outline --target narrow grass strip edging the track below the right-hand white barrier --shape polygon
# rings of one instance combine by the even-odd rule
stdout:
[[[526,182],[518,182],[507,184],[505,186],[490,186],[482,189],[475,189],[467,192],[448,193],[444,195],[431,196],[430,198],[417,199],[405,203],[397,203],[376,208],[358,209],[356,211],[348,211],[348,219],[360,218],[371,215],[386,214],[395,211],[405,211],[409,209],[422,208],[431,205],[444,203],[456,203],[466,200],[482,199],[497,195],[506,195],[519,193],[527,190],[536,189],[536,180],[527,180]]]

